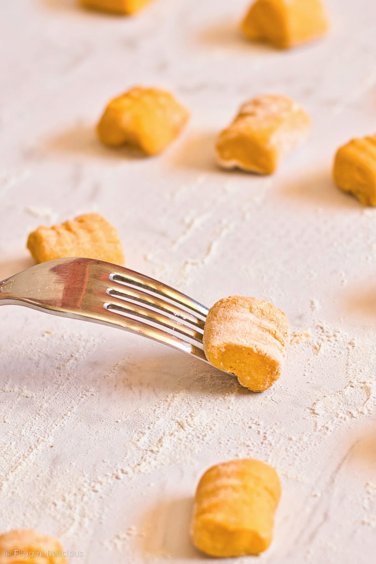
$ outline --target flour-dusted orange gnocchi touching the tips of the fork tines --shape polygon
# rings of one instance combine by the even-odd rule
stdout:
[[[229,296],[210,308],[203,341],[211,364],[236,374],[250,390],[264,391],[281,375],[290,325],[263,299]]]

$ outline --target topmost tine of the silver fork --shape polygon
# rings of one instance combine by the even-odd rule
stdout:
[[[209,312],[207,307],[202,305],[202,303],[196,302],[194,299],[185,296],[185,294],[178,292],[170,286],[162,284],[158,280],[154,280],[149,276],[144,276],[143,274],[139,274],[139,272],[129,270],[128,268],[117,267],[117,270],[114,269],[112,274],[110,274],[110,280],[123,285],[135,285],[156,294],[160,294],[160,296],[163,296],[164,298],[172,299],[173,301],[180,303],[180,305],[188,307],[188,309],[194,311],[198,315],[201,315],[204,319]]]

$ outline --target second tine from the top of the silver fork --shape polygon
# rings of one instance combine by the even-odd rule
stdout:
[[[143,303],[144,305],[152,306],[165,312],[167,315],[173,315],[175,318],[179,318],[185,323],[193,325],[196,329],[201,329],[201,331],[204,330],[205,321],[198,318],[196,315],[190,314],[181,307],[177,307],[170,302],[165,302],[163,299],[153,296],[147,292],[143,292],[143,290],[138,288],[131,288],[128,286],[124,292],[109,288],[107,293],[109,296],[114,296],[124,300],[132,299],[136,302]]]

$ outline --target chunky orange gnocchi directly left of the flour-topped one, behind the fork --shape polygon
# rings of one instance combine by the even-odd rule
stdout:
[[[189,112],[163,90],[135,87],[114,98],[97,126],[105,145],[130,144],[146,155],[157,155],[179,135]]]

